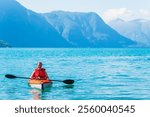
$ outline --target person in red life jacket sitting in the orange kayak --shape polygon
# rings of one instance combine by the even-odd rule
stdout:
[[[42,62],[38,62],[37,68],[33,71],[31,80],[49,80],[46,70],[42,68]]]

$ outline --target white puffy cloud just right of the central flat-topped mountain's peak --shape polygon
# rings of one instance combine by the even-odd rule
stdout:
[[[134,16],[133,12],[127,8],[108,9],[103,12],[102,18],[107,22],[113,19],[131,19]]]

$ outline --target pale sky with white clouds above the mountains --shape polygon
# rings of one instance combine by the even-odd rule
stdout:
[[[150,0],[17,0],[26,8],[45,13],[56,10],[96,12],[106,22],[122,18],[150,20]]]

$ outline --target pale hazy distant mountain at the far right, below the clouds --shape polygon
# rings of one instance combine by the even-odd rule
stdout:
[[[108,23],[123,36],[132,39],[141,47],[150,47],[150,21],[145,19],[136,19],[124,21],[116,19]]]

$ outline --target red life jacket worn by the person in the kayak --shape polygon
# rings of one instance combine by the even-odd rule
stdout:
[[[36,68],[31,76],[31,79],[47,80],[48,76],[44,68],[41,69]]]

